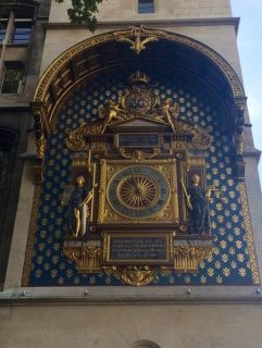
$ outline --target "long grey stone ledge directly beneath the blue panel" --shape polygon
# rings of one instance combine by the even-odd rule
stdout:
[[[262,304],[255,286],[187,287],[11,287],[0,293],[0,307]]]

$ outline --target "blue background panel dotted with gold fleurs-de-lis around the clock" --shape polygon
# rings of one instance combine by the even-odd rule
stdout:
[[[208,185],[222,188],[224,202],[210,204],[214,251],[200,263],[196,274],[161,274],[151,285],[252,285],[252,264],[240,186],[234,176],[233,147],[227,134],[223,108],[212,98],[202,82],[169,71],[145,71],[163,101],[166,98],[180,107],[179,117],[205,128],[213,138],[207,150]],[[80,274],[62,251],[66,210],[61,206],[64,185],[72,179],[72,152],[65,146],[66,129],[98,117],[98,107],[117,100],[122,86],[133,71],[98,76],[89,85],[74,91],[58,115],[57,128],[48,140],[43,184],[32,257],[30,286],[123,285],[105,274]],[[251,236],[252,237],[252,236]],[[250,240],[249,240],[250,243]]]

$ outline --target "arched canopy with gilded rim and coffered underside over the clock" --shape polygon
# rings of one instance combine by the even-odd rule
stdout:
[[[74,88],[108,70],[142,64],[184,70],[204,80],[225,105],[232,134],[237,127],[242,134],[246,97],[229,63],[192,38],[140,26],[86,39],[60,54],[46,70],[33,102],[38,158],[43,158],[53,120]]]

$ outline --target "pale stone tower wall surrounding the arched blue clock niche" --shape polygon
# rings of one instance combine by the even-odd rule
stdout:
[[[41,74],[59,54],[82,40],[142,24],[182,34],[209,46],[234,67],[241,79],[236,44],[238,20],[232,17],[228,0],[157,0],[153,14],[138,14],[135,0],[105,0],[100,7],[95,34],[85,27],[70,25],[66,15],[70,2],[52,1],[46,27]],[[42,35],[40,40],[43,44]],[[248,112],[246,122],[249,122]],[[34,151],[33,136],[28,136],[27,152]],[[250,210],[257,250],[257,256],[252,257],[258,258],[261,271],[262,212],[258,157],[248,129],[245,162],[249,207],[246,209]],[[161,348],[261,347],[262,302],[258,283],[238,286],[232,281],[228,286],[173,284],[141,288],[77,285],[46,287],[42,284],[21,286],[24,269],[32,266],[32,263],[25,265],[24,262],[26,245],[33,247],[36,241],[28,238],[28,231],[34,228],[30,216],[37,203],[34,201],[33,182],[33,162],[27,158],[23,167],[5,290],[0,294],[1,347],[30,348],[36,344],[39,348],[155,347],[145,340]],[[34,266],[36,264],[37,260]],[[37,284],[37,279],[34,282]],[[144,346],[135,345],[141,340]]]

